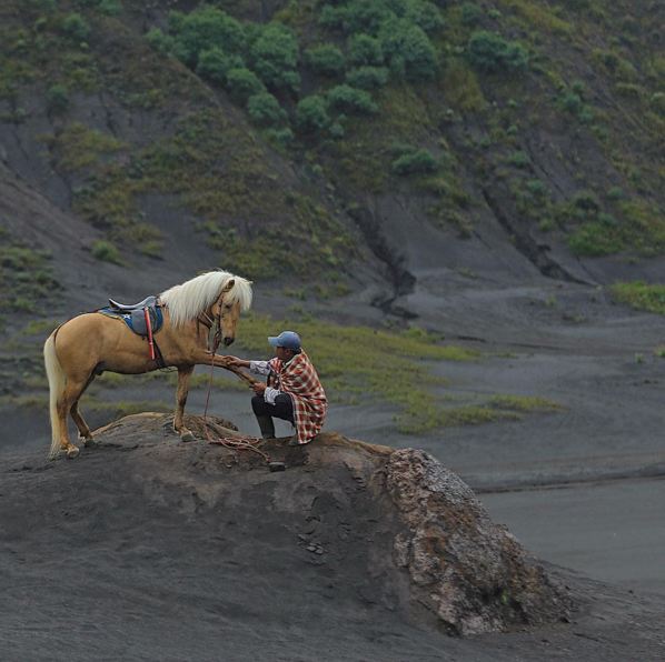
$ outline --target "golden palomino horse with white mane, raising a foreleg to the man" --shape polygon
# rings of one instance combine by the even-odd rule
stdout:
[[[251,305],[251,282],[226,271],[210,271],[175,285],[159,295],[163,325],[155,335],[165,365],[178,369],[173,429],[183,441],[193,439],[182,423],[189,378],[193,367],[206,363],[227,368],[224,357],[208,347],[211,328],[229,345],[236,339],[240,311]],[[68,458],[79,453],[67,430],[71,414],[85,445],[93,443],[90,428],[79,411],[79,399],[105,370],[141,374],[160,368],[146,341],[122,320],[99,312],[80,314],[58,327],[43,345],[50,390],[51,452]],[[234,372],[236,372],[234,370]]]

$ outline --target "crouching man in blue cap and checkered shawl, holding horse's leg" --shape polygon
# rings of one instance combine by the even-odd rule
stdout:
[[[255,374],[268,375],[268,383],[254,385],[251,409],[264,439],[275,438],[272,417],[289,421],[296,434],[289,445],[309,443],[324,424],[328,401],[318,374],[294,331],[268,338],[275,348],[270,361],[245,361],[226,357],[229,365],[249,368]]]

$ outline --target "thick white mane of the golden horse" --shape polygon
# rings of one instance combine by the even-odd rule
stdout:
[[[180,285],[173,285],[159,295],[169,309],[171,324],[178,327],[196,319],[217,301],[221,290],[231,279],[235,283],[227,294],[228,300],[239,301],[240,309],[248,310],[251,305],[251,281],[228,271],[208,271]]]

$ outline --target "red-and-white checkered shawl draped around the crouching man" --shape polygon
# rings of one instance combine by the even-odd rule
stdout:
[[[328,400],[319,375],[305,352],[296,354],[288,363],[280,359],[268,361],[275,388],[291,397],[298,443],[307,443],[324,425]]]

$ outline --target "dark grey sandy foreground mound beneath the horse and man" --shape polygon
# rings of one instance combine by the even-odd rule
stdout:
[[[665,650],[664,599],[552,566],[578,604],[569,622],[443,634],[405,610],[380,503],[344,463],[285,459],[281,473],[244,469],[167,429],[107,434],[71,462],[4,452],[2,659],[619,661]]]

